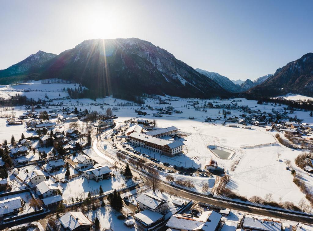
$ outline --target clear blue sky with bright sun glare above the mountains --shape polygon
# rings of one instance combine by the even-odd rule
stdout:
[[[0,69],[87,39],[141,38],[193,68],[254,80],[313,52],[313,1],[0,1]]]

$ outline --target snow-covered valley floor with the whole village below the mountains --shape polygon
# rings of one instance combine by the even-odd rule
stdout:
[[[72,99],[63,86],[1,107],[2,229],[313,230],[312,113],[244,98]]]

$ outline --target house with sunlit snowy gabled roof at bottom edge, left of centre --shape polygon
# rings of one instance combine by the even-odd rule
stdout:
[[[61,225],[66,230],[90,230],[93,223],[82,212],[67,212],[59,218]]]

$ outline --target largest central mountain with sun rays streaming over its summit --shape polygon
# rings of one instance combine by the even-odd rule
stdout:
[[[26,72],[37,79],[63,78],[81,83],[93,96],[168,94],[227,97],[229,92],[166,50],[137,39],[84,41]]]

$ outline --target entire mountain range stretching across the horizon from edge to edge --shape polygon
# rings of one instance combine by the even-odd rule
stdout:
[[[93,97],[142,94],[178,97],[268,97],[285,93],[313,95],[313,53],[251,81],[230,80],[193,69],[171,53],[138,38],[86,40],[59,55],[38,51],[0,70],[0,83],[62,78],[81,83]]]

